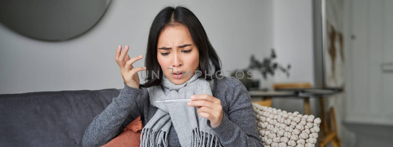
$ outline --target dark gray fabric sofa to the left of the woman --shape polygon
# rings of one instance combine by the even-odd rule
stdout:
[[[0,147],[80,147],[121,89],[0,94]]]

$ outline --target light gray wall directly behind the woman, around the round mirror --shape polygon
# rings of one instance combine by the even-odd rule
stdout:
[[[145,54],[152,19],[166,4],[183,4],[195,13],[223,70],[244,68],[251,54],[262,56],[273,45],[272,0],[114,0],[91,31],[65,42],[32,40],[0,24],[0,94],[123,88],[116,47],[130,45],[130,56]]]

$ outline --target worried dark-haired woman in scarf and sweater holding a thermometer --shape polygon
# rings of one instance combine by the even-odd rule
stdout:
[[[165,7],[154,18],[146,67],[134,68],[143,56],[128,51],[119,45],[115,57],[124,88],[86,129],[83,146],[104,145],[138,116],[141,147],[262,146],[250,95],[239,80],[220,75],[219,57],[189,9]],[[144,70],[140,85],[137,72]],[[180,98],[191,101],[156,102]]]

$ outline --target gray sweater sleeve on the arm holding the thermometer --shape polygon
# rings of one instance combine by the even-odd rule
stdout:
[[[234,81],[229,112],[224,113],[220,125],[212,129],[224,147],[263,147],[250,94],[239,80]],[[210,121],[208,126],[211,127]]]

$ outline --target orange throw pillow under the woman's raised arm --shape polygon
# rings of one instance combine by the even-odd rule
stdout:
[[[118,136],[101,147],[139,147],[142,128],[141,116],[138,116]]]

